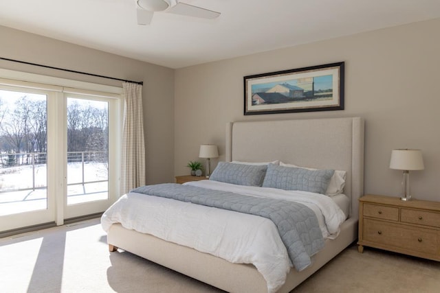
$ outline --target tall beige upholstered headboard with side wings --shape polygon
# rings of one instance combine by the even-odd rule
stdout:
[[[230,122],[226,161],[275,161],[347,171],[352,218],[364,191],[364,120],[360,117]]]

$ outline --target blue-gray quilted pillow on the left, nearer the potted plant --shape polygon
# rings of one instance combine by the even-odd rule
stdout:
[[[267,165],[243,165],[219,162],[209,180],[247,186],[263,184]]]

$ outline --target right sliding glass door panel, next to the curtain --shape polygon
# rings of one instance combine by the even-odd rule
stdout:
[[[99,213],[115,199],[114,99],[67,94],[66,217]],[[109,143],[113,142],[113,143]],[[111,180],[113,178],[113,180]]]

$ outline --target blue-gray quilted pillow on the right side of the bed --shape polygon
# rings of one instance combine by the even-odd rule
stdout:
[[[335,170],[308,170],[269,164],[263,187],[285,190],[301,190],[325,194]]]

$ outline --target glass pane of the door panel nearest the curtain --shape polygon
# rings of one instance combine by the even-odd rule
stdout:
[[[67,204],[107,200],[108,103],[67,98]]]

